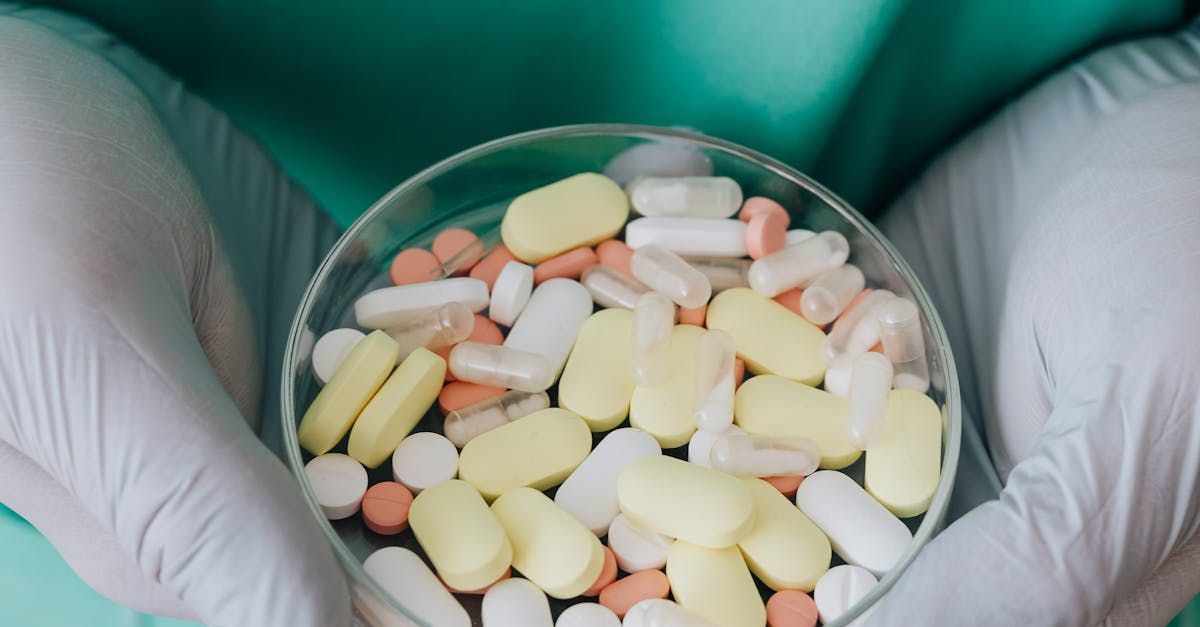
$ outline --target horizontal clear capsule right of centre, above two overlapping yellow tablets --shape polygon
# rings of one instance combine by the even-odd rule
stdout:
[[[806,437],[724,434],[708,454],[713,470],[737,477],[809,476],[821,450]]]

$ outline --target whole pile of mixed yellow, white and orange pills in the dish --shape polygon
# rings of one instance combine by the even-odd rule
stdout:
[[[790,222],[730,178],[583,173],[512,199],[491,250],[401,251],[367,332],[312,348],[325,515],[412,530],[424,555],[364,567],[432,625],[470,625],[455,595],[485,627],[835,620],[908,549],[942,414],[913,301]]]

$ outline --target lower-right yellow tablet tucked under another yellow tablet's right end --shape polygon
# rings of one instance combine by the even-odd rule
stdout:
[[[742,482],[755,509],[754,529],[738,543],[746,566],[772,590],[811,592],[829,569],[829,538],[772,484],[754,477]]]

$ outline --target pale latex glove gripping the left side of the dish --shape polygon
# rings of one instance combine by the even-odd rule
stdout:
[[[282,177],[242,197],[241,216],[218,203],[215,227],[202,195],[215,169],[193,178],[181,155],[220,153],[209,167],[244,191],[240,177],[269,162],[166,86],[158,96],[199,114],[196,145],[176,147],[114,66],[0,16],[0,501],[137,609],[209,625],[348,623],[332,551],[251,429],[260,354],[278,350],[271,321],[290,317],[331,229]],[[296,204],[308,214],[276,222]]]

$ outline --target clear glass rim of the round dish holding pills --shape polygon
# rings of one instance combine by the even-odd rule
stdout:
[[[745,159],[748,161],[755,162],[772,172],[776,175],[787,179],[800,187],[804,187],[814,196],[821,198],[828,205],[833,207],[838,213],[842,215],[851,225],[857,229],[866,233],[868,237],[878,246],[881,246],[884,252],[887,252],[889,261],[895,267],[896,271],[912,289],[912,297],[917,300],[922,310],[922,315],[925,316],[929,323],[930,332],[934,339],[934,345],[937,347],[938,359],[944,364],[944,376],[946,376],[946,407],[947,407],[947,422],[948,432],[946,441],[943,442],[944,452],[942,455],[942,468],[941,476],[938,477],[937,489],[934,492],[934,498],[930,504],[929,510],[925,513],[925,518],[922,520],[920,526],[913,535],[913,542],[905,551],[904,556],[896,563],[892,571],[875,586],[871,592],[863,599],[866,603],[859,603],[859,608],[874,607],[880,598],[883,597],[895,584],[896,579],[907,571],[908,565],[912,563],[917,554],[925,547],[925,544],[932,538],[934,533],[941,526],[946,512],[950,502],[950,492],[954,489],[954,477],[959,465],[959,447],[962,440],[962,414],[961,414],[961,398],[959,392],[959,380],[958,371],[954,364],[954,356],[950,351],[949,339],[946,335],[946,328],[942,326],[942,318],[938,316],[937,310],[934,307],[932,300],[930,300],[929,294],[925,292],[924,286],[917,279],[912,268],[908,263],[900,256],[899,251],[892,246],[882,233],[866,220],[862,214],[858,213],[847,202],[841,199],[838,195],[833,193],[826,189],[820,183],[812,180],[804,173],[799,172],[791,166],[782,163],[773,157],[769,157],[756,150],[734,144],[732,142],[726,142],[724,139],[718,139],[714,137],[708,137],[694,131],[686,131],[680,129],[670,129],[661,126],[648,126],[648,125],[634,125],[634,124],[578,124],[568,126],[552,126],[547,129],[539,129],[534,131],[526,131],[516,135],[510,135],[491,142],[479,144],[476,147],[469,148],[461,153],[457,153],[450,157],[446,157],[433,166],[425,168],[424,171],[408,178],[400,185],[395,186],[380,197],[374,204],[371,205],[358,220],[355,220],[349,228],[337,239],[334,247],[330,249],[329,253],[322,261],[320,265],[317,268],[317,273],[313,274],[312,280],[310,280],[308,286],[305,288],[304,297],[300,300],[300,306],[296,309],[296,315],[292,321],[292,328],[288,333],[288,341],[284,346],[284,358],[283,358],[283,376],[281,384],[281,407],[280,418],[282,422],[283,432],[283,448],[287,455],[288,466],[292,473],[296,477],[300,483],[300,489],[305,494],[305,498],[308,501],[308,509],[312,512],[313,516],[317,518],[322,526],[322,531],[325,533],[325,538],[330,542],[334,553],[337,559],[342,562],[347,572],[353,577],[352,592],[355,585],[361,585],[367,587],[378,598],[384,599],[392,608],[402,613],[404,616],[410,619],[416,625],[424,625],[420,619],[413,616],[408,608],[404,608],[392,598],[386,591],[379,587],[374,580],[366,574],[362,569],[362,563],[355,557],[349,549],[342,543],[337,532],[330,525],[329,520],[325,519],[320,508],[317,506],[317,500],[312,492],[312,486],[308,484],[307,477],[304,473],[304,459],[300,454],[300,446],[296,440],[295,434],[295,406],[293,404],[294,389],[293,389],[293,377],[292,372],[295,371],[296,364],[294,363],[294,356],[299,353],[299,347],[301,344],[301,338],[305,333],[304,322],[307,320],[312,312],[312,306],[316,300],[317,287],[323,285],[332,269],[334,259],[341,257],[346,251],[347,246],[356,238],[356,235],[366,228],[366,225],[371,222],[380,211],[383,211],[391,202],[414,189],[420,187],[425,183],[432,180],[433,178],[444,174],[445,172],[454,169],[463,163],[474,161],[481,156],[504,150],[508,148],[517,147],[538,139],[551,139],[559,137],[587,137],[587,136],[626,136],[626,137],[641,137],[647,139],[683,139],[692,142],[703,148],[710,148],[715,150],[721,150],[734,156]],[[846,625],[859,614],[846,614],[841,616],[833,625]]]

